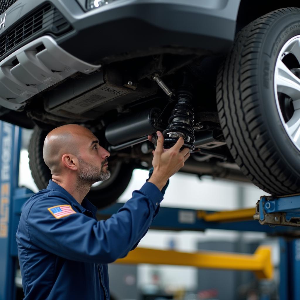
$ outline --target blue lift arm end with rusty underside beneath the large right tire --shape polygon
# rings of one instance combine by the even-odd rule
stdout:
[[[300,227],[300,194],[260,197],[254,219],[260,224]]]

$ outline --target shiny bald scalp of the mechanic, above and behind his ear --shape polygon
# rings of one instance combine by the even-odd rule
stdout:
[[[90,133],[76,124],[63,125],[49,132],[44,141],[43,158],[52,175],[60,175],[63,171],[61,158],[64,154],[80,155],[80,136]]]

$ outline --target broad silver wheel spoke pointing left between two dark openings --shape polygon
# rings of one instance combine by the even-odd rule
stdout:
[[[300,79],[282,61],[277,62],[277,92],[288,95],[293,100],[300,99]]]

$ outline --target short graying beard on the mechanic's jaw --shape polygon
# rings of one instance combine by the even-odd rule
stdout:
[[[110,171],[107,169],[103,171],[102,167],[107,164],[104,160],[101,167],[97,167],[85,162],[81,157],[78,157],[80,171],[78,176],[78,185],[92,185],[98,181],[108,180],[110,178]]]

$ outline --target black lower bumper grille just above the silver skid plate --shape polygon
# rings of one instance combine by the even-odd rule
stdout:
[[[56,7],[47,3],[19,21],[6,32],[6,35],[1,36],[0,58],[10,50],[25,44],[29,39],[37,38],[44,33],[51,33],[57,37],[71,29],[70,24]]]

